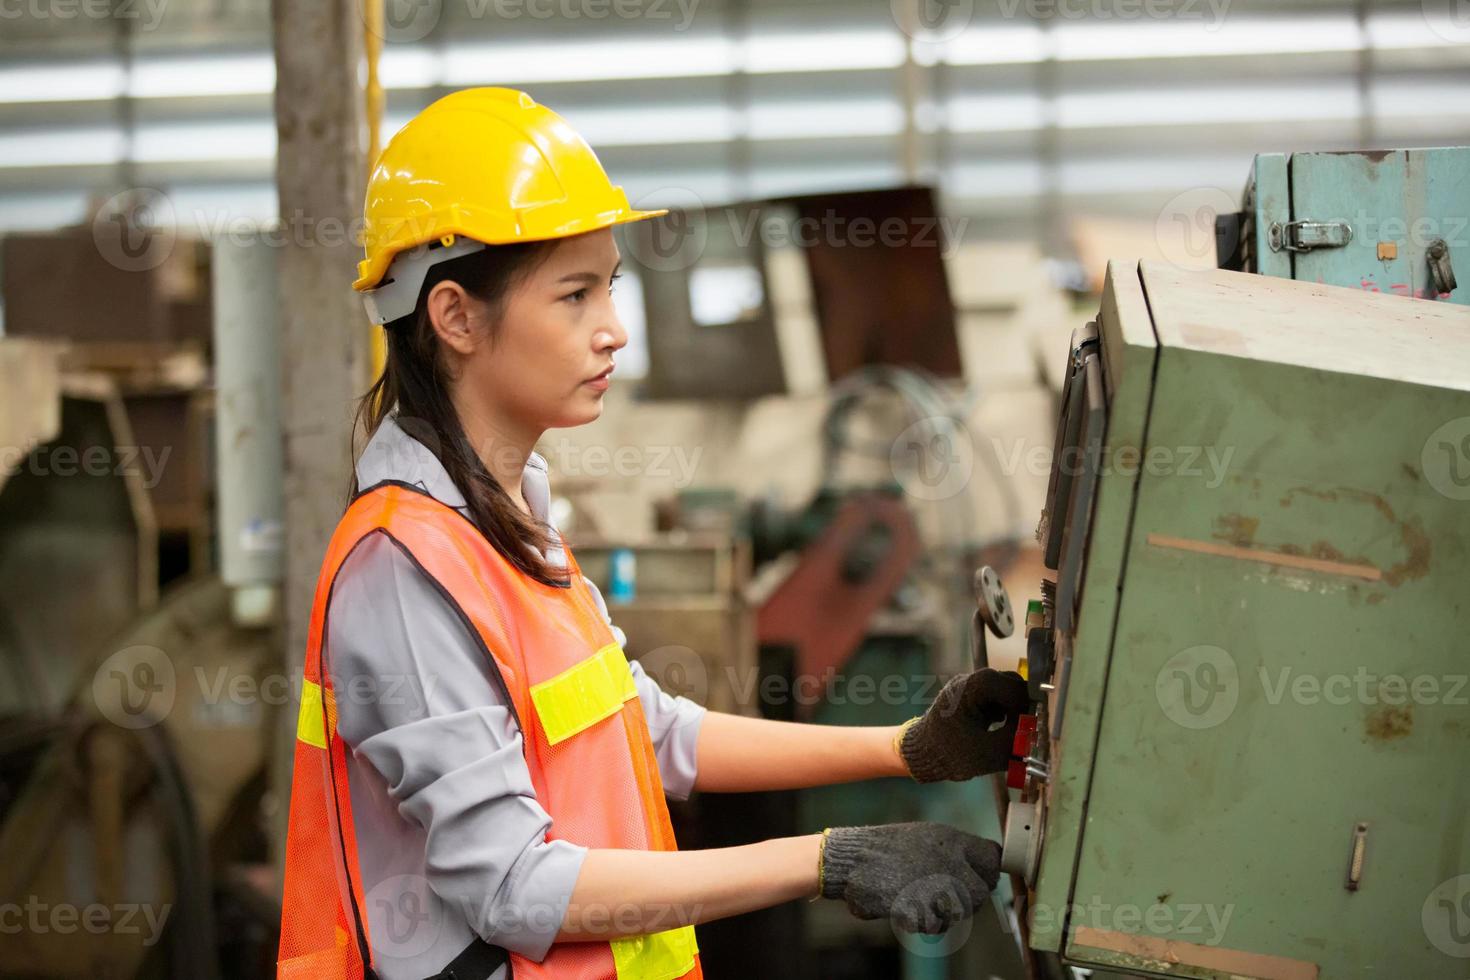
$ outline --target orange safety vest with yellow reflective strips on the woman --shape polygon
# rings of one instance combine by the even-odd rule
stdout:
[[[570,548],[570,588],[544,585],[506,561],[454,508],[416,488],[382,483],[347,508],[316,582],[291,777],[279,980],[360,980],[370,965],[347,751],[337,735],[331,676],[322,670],[332,580],[370,533],[387,533],[412,557],[492,658],[520,726],[537,801],[551,815],[547,839],[678,848],[632,671]],[[517,980],[704,976],[692,926],[553,943],[541,962],[510,952],[510,968]]]

